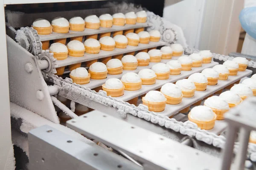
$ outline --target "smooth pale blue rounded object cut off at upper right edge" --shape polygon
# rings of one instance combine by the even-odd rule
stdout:
[[[244,8],[239,14],[239,20],[244,31],[256,39],[256,7]]]

